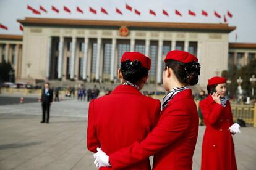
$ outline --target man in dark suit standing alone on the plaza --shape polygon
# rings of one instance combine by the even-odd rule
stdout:
[[[42,110],[43,110],[43,118],[41,123],[49,123],[49,111],[51,102],[53,102],[53,91],[49,88],[49,83],[45,83],[45,87],[43,88],[41,94],[41,102],[42,102]],[[47,117],[45,118],[45,112],[47,113]]]

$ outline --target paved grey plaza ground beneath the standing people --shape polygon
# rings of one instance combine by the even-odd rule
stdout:
[[[2,98],[0,99],[2,100]],[[0,169],[96,169],[87,151],[88,102],[53,102],[49,124],[41,124],[38,102],[0,105]],[[200,126],[193,169],[200,169]],[[238,169],[256,169],[256,129],[234,136]]]

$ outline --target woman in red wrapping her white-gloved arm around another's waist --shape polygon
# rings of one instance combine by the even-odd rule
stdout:
[[[184,51],[168,52],[164,62],[163,86],[169,93],[163,99],[157,126],[145,139],[109,156],[98,148],[95,163],[124,168],[155,155],[153,169],[192,169],[198,113],[192,91],[187,86],[197,84],[200,65],[194,55]]]

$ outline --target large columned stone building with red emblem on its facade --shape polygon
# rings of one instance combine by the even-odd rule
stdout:
[[[23,35],[0,35],[0,62],[9,61],[16,81],[71,84],[118,83],[122,54],[138,51],[151,58],[148,84],[161,86],[164,57],[179,49],[197,56],[197,87],[231,65],[240,68],[256,57],[256,44],[229,43],[235,26],[220,23],[164,23],[111,20],[25,18]]]

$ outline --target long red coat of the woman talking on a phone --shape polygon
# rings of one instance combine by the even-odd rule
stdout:
[[[200,103],[205,122],[205,135],[202,145],[202,170],[237,169],[234,143],[229,131],[233,117],[229,101],[226,107],[214,102],[211,95]]]

